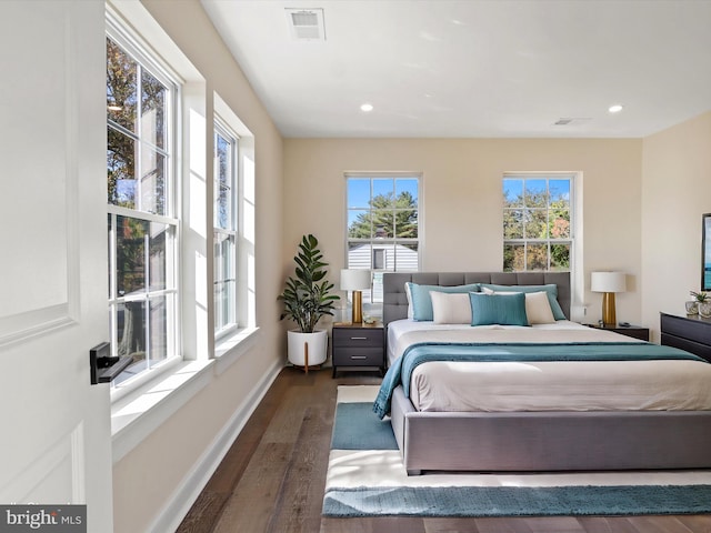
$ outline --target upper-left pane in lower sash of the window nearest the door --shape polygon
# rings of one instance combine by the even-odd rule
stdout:
[[[146,247],[149,223],[117,217],[117,291],[119,296],[146,290]]]

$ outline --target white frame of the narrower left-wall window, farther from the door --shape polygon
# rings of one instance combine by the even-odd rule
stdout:
[[[220,161],[218,154],[218,135],[222,137],[229,144],[229,161],[226,165],[228,172],[228,182],[229,182],[229,201],[230,201],[230,217],[228,220],[228,228],[222,228],[218,223],[218,201],[220,198]],[[223,121],[219,115],[216,114],[214,120],[214,227],[213,227],[213,238],[214,238],[214,338],[216,341],[224,338],[226,335],[230,335],[234,333],[238,329],[239,316],[237,309],[237,299],[238,299],[238,220],[239,220],[239,191],[240,191],[240,173],[239,173],[239,135]],[[231,253],[231,258],[228,261],[228,272],[224,272],[223,265],[224,262],[219,261],[222,250],[218,247],[218,242],[228,241],[229,253]],[[232,283],[231,291],[228,290],[227,295],[227,312],[219,303],[219,291],[220,285],[226,282]]]

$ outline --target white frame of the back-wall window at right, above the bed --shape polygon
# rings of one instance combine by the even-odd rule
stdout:
[[[524,183],[527,180],[545,180],[545,187],[547,190],[549,189],[549,181],[550,180],[568,180],[570,183],[570,198],[569,198],[569,209],[570,209],[570,229],[569,229],[569,233],[570,237],[568,239],[553,239],[549,235],[548,239],[533,239],[533,238],[527,238],[524,235],[523,239],[507,239],[505,238],[505,228],[503,225],[504,221],[505,221],[505,217],[502,218],[502,235],[503,235],[503,248],[502,248],[502,270],[503,266],[505,266],[504,261],[505,258],[503,257],[503,250],[505,250],[507,244],[513,243],[513,244],[523,244],[523,245],[528,245],[529,243],[531,244],[547,244],[548,247],[548,254],[547,254],[547,269],[544,270],[551,270],[551,251],[550,251],[550,247],[551,244],[568,244],[569,249],[570,249],[570,260],[569,260],[569,268],[568,271],[573,272],[573,268],[575,264],[575,255],[577,255],[577,245],[575,245],[575,225],[577,225],[577,210],[578,210],[578,202],[575,201],[575,182],[578,181],[578,174],[575,172],[510,172],[510,173],[504,173],[503,178],[502,178],[502,185],[503,185],[503,180],[523,180]],[[525,185],[524,185],[525,187]],[[550,213],[550,204],[547,208],[548,212]],[[502,198],[502,213],[504,213],[507,210],[507,207],[503,204],[503,198]],[[523,261],[523,270],[513,270],[514,272],[528,272],[528,261],[524,259]],[[564,272],[564,270],[561,270],[561,272]]]

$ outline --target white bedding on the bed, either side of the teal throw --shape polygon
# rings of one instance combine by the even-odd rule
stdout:
[[[424,333],[422,333],[424,332]],[[639,342],[568,321],[521,326],[399,320],[388,328],[391,363],[411,342]],[[500,340],[498,340],[500,339]],[[411,379],[420,411],[711,410],[711,364],[699,361],[428,362]]]

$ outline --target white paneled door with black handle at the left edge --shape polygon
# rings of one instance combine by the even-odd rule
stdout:
[[[0,1],[0,503],[112,530],[104,4]]]

